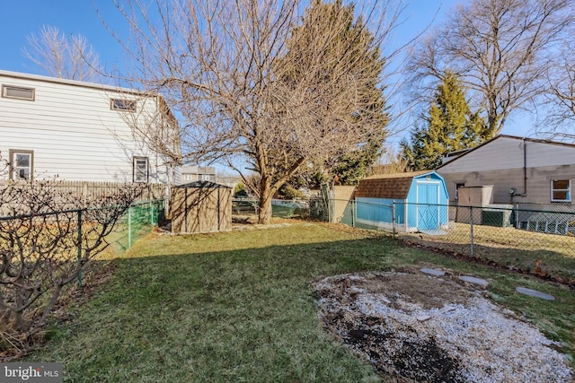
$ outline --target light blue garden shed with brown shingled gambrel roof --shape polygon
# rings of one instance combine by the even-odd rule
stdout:
[[[358,223],[382,229],[392,229],[395,223],[397,231],[436,233],[448,225],[447,187],[435,171],[364,178],[355,199]]]

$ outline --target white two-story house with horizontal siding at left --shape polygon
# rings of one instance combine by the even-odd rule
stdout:
[[[7,71],[0,86],[0,155],[9,163],[0,178],[180,182],[177,123],[161,97]]]

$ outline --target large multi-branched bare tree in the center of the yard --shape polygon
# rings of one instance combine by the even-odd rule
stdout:
[[[271,197],[302,166],[381,130],[366,118],[381,100],[358,91],[381,79],[337,39],[349,27],[343,15],[304,28],[298,0],[116,4],[134,38],[118,37],[136,64],[130,77],[163,94],[181,119],[182,161],[247,158],[261,176],[261,223],[270,221]],[[368,51],[378,54],[399,9],[380,0],[355,10],[366,14],[354,32],[364,39],[369,30]],[[328,59],[327,50],[337,55]]]

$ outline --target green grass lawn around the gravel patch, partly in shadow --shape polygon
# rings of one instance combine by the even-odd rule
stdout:
[[[63,362],[65,381],[77,382],[378,381],[366,361],[323,332],[310,283],[421,265],[489,279],[495,300],[574,351],[572,290],[403,248],[373,231],[295,221],[264,230],[151,234],[112,262],[110,282],[73,308],[73,320],[52,325],[49,343],[27,361]],[[518,285],[557,300],[519,295]]]

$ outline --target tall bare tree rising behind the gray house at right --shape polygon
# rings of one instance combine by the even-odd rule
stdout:
[[[412,52],[411,70],[428,90],[449,70],[486,110],[488,134],[544,92],[547,55],[573,17],[570,0],[473,0]],[[430,85],[430,86],[429,86]],[[419,91],[425,88],[420,83]]]

